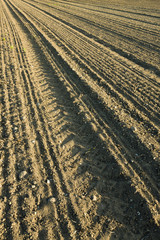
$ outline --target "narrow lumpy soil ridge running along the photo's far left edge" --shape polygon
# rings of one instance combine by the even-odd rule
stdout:
[[[16,191],[16,171],[15,171],[15,151],[13,146],[14,138],[14,127],[10,123],[13,121],[13,102],[10,95],[10,85],[12,85],[11,76],[11,59],[9,57],[11,42],[9,34],[7,33],[7,25],[4,20],[2,23],[3,30],[3,44],[2,44],[2,139],[4,147],[4,158],[2,165],[3,184],[2,184],[2,196],[3,203],[5,204],[3,214],[4,229],[1,232],[2,239],[9,237],[14,239],[18,236],[19,232],[19,221],[18,221],[18,206],[16,204],[17,198],[14,196]],[[5,30],[4,30],[5,29]],[[16,221],[14,221],[15,219]],[[14,231],[15,230],[15,231]],[[13,233],[14,231],[14,233]]]

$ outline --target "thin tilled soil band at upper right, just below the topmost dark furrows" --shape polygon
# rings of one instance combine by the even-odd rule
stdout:
[[[24,2],[29,3],[31,6],[34,6],[34,7],[38,8],[38,9],[40,9],[40,10],[43,9],[42,7],[39,8],[37,5],[35,5],[35,4],[31,3],[31,2],[27,2],[27,1],[24,1]],[[128,37],[128,39],[130,39],[131,36],[133,36],[131,34],[134,34],[133,41],[136,41],[137,43],[139,42],[140,45],[145,45],[145,44],[148,45],[149,42],[150,42],[149,47],[152,48],[154,46],[152,50],[155,50],[155,49],[159,48],[159,45],[155,45],[155,43],[158,44],[158,39],[157,40],[153,39],[153,38],[150,39],[148,37],[148,41],[149,42],[146,41],[147,34],[149,34],[149,36],[150,35],[153,35],[153,36],[155,35],[155,36],[159,37],[158,31],[157,32],[152,32],[152,29],[147,29],[145,31],[144,27],[143,28],[141,27],[139,29],[140,32],[138,33],[138,26],[137,25],[135,26],[135,22],[134,22],[133,25],[131,25],[130,22],[126,22],[126,24],[124,24],[125,23],[124,21],[118,21],[117,18],[115,18],[115,19],[107,18],[106,14],[104,16],[102,14],[98,15],[98,14],[96,14],[96,12],[94,12],[94,14],[93,14],[93,13],[90,12],[89,9],[88,9],[88,11],[89,11],[90,18],[88,19],[87,15],[85,14],[85,12],[83,13],[83,10],[80,12],[79,9],[78,9],[78,11],[77,11],[77,9],[74,9],[74,8],[71,8],[71,10],[70,9],[66,9],[64,7],[64,5],[62,5],[62,6],[60,5],[58,7],[55,7],[54,5],[48,7],[48,5],[45,4],[45,3],[43,3],[41,5],[42,6],[47,6],[46,13],[49,13],[49,12],[52,13],[53,12],[53,11],[50,10],[50,8],[53,8],[54,10],[56,10],[56,12],[54,11],[54,15],[55,16],[61,17],[62,16],[61,13],[63,13],[63,16],[64,16],[63,19],[65,21],[67,20],[66,22],[72,22],[71,21],[71,17],[73,17],[74,23],[75,23],[75,20],[76,20],[76,24],[77,24],[78,20],[81,20],[83,22],[83,24],[84,23],[88,23],[89,25],[92,25],[92,27],[95,26],[95,27],[98,27],[98,29],[101,29],[101,30],[104,29],[104,30],[107,31],[107,29],[108,29],[107,34],[108,34],[108,32],[114,33],[115,29],[119,29],[118,31],[115,32],[115,34],[118,34],[118,33],[122,34],[123,33],[123,36],[126,37],[126,38]],[[60,12],[60,14],[57,14],[58,11]],[[74,14],[73,14],[73,12],[74,12]],[[69,17],[67,17],[67,14],[69,15]],[[70,19],[70,21],[69,21],[69,19]],[[110,21],[110,23],[111,23],[110,26],[107,25],[108,21]],[[81,23],[81,26],[82,26],[82,23]],[[113,28],[113,26],[114,26],[114,28]],[[122,27],[124,27],[126,29],[124,29]],[[132,29],[132,33],[129,34],[130,28]],[[134,29],[135,29],[135,32],[133,32]],[[125,31],[126,35],[124,35],[124,31]],[[145,32],[145,37],[146,37],[145,41],[142,38],[142,32]],[[136,39],[136,37],[137,37],[137,39]]]

